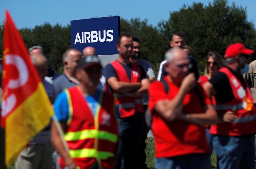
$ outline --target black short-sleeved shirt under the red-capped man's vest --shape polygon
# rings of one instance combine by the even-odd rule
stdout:
[[[234,74],[237,77],[237,79],[241,82],[241,84],[245,89],[246,84],[244,82],[243,76],[238,75],[235,71],[233,71],[229,67],[227,68],[228,70],[230,70],[232,74]],[[220,103],[229,103],[234,99],[233,91],[228,81],[228,76],[225,73],[218,72],[212,75],[212,78],[209,80],[209,82],[212,83],[213,88],[217,92],[217,94],[214,96],[216,101]]]

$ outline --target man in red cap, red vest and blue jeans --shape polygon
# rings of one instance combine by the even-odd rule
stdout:
[[[228,46],[225,66],[203,86],[209,96],[215,96],[220,117],[220,123],[210,128],[220,169],[255,168],[252,137],[256,133],[256,110],[243,78],[249,66],[241,55],[253,52],[242,43]]]

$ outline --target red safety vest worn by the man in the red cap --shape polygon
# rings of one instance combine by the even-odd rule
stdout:
[[[253,99],[248,85],[246,89],[244,89],[241,82],[227,67],[222,67],[219,71],[227,75],[234,99],[229,103],[217,102],[216,105],[214,105],[215,110],[218,113],[233,111],[236,113],[237,119],[232,123],[223,122],[218,123],[217,125],[211,125],[210,132],[212,134],[229,136],[255,134],[256,109],[253,105]]]

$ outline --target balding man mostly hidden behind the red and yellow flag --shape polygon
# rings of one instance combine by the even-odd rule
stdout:
[[[33,53],[30,55],[30,58],[44,84],[46,93],[53,103],[55,99],[54,87],[51,83],[44,80],[48,69],[46,57],[43,53]],[[16,169],[49,169],[53,167],[52,153],[54,148],[50,141],[50,131],[51,125],[49,124],[44,130],[36,134],[36,136],[30,140],[27,147],[21,151],[15,161]]]

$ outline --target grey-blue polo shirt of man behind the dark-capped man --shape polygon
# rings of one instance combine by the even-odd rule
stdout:
[[[68,79],[68,77],[63,73],[62,75],[58,76],[54,81],[53,81],[53,86],[55,89],[55,95],[58,96],[60,92],[62,92],[63,89],[65,88],[71,88],[73,86],[76,86],[77,84]]]

